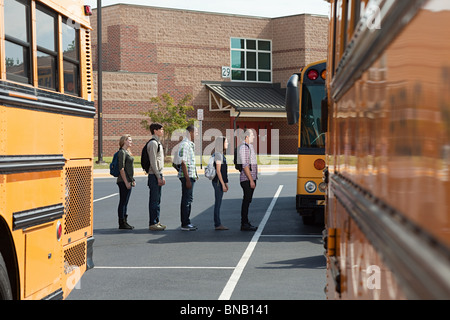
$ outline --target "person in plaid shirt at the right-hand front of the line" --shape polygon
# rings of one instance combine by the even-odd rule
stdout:
[[[256,152],[253,148],[253,131],[245,129],[242,133],[241,140],[244,141],[239,147],[239,157],[242,161],[242,171],[240,175],[241,188],[244,193],[241,207],[241,230],[256,231],[258,229],[250,224],[248,220],[248,208],[252,202],[253,192],[256,188],[256,180],[258,179],[258,164],[256,161]]]

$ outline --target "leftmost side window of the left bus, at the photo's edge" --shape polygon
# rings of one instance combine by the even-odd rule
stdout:
[[[6,79],[31,84],[30,3],[5,0]]]

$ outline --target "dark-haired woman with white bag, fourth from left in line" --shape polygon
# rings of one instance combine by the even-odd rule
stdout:
[[[215,140],[214,163],[216,176],[212,180],[214,188],[214,227],[216,230],[228,230],[220,221],[220,206],[222,205],[223,193],[228,191],[228,165],[225,157],[228,148],[226,137],[217,137]]]

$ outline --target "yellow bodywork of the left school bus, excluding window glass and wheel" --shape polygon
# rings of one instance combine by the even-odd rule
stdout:
[[[41,4],[57,17],[54,88],[38,87],[35,10]],[[57,299],[67,297],[86,270],[93,242],[91,28],[82,0],[30,1],[29,9],[31,80],[19,83],[7,79],[0,1],[0,215],[12,237],[7,265],[16,274],[17,298]],[[64,94],[62,23],[79,33],[79,58],[64,58],[79,69],[79,97]]]

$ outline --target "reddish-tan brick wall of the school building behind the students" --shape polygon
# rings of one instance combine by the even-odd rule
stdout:
[[[97,61],[95,13],[91,23]],[[301,66],[326,58],[326,17],[269,19],[113,5],[102,9],[102,18],[104,156],[112,155],[125,133],[133,136],[134,153],[140,154],[149,137],[140,124],[141,113],[152,107],[151,97],[166,92],[176,100],[192,94],[195,109],[204,110],[203,132],[217,128],[225,134],[230,114],[209,111],[208,90],[201,82],[224,81],[221,66],[230,65],[230,37],[272,40],[272,78],[282,88]],[[196,111],[190,116],[196,117]],[[280,153],[296,153],[298,127],[287,126],[285,118],[270,121],[280,130]],[[97,154],[97,140],[94,145]]]

